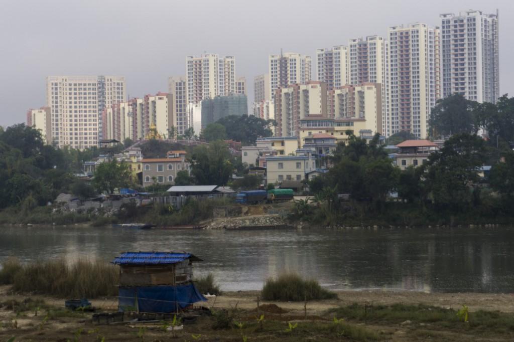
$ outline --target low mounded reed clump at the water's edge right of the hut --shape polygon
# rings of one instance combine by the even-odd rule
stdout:
[[[314,279],[306,280],[296,273],[286,273],[277,279],[266,280],[262,297],[265,300],[302,301],[333,299],[337,294],[323,289]]]

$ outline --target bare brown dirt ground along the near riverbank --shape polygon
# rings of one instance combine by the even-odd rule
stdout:
[[[265,328],[259,330],[255,318],[258,316],[258,291],[227,292],[221,296],[209,298],[204,306],[214,310],[227,309],[238,312],[237,319],[245,323],[244,330],[213,330],[212,317],[200,317],[195,324],[185,325],[177,332],[177,338],[163,329],[159,322],[138,325],[93,325],[91,314],[66,314],[64,298],[48,296],[30,296],[27,294],[12,294],[9,287],[0,287],[0,303],[12,300],[23,301],[25,298],[41,298],[46,305],[61,308],[61,315],[45,319],[45,312],[41,310],[38,316],[34,312],[14,313],[7,307],[0,307],[0,341],[7,341],[15,337],[16,341],[193,341],[193,340],[368,340],[350,338],[343,335],[334,338],[326,331],[333,324],[327,310],[352,303],[368,305],[425,304],[443,308],[458,309],[466,304],[470,311],[487,310],[514,313],[513,294],[480,294],[480,293],[421,293],[405,291],[340,291],[338,298],[333,300],[309,301],[306,312],[303,302],[270,302],[259,299],[261,306],[259,314],[266,317]],[[117,298],[98,298],[90,300],[99,311],[116,311]],[[267,311],[266,311],[267,310]],[[306,317],[305,317],[306,313]],[[295,334],[286,333],[287,322],[298,322],[304,330]],[[430,325],[404,326],[391,325],[363,325],[355,324],[380,336],[378,340],[390,341],[507,341],[512,335],[493,334],[484,337],[476,336],[454,329],[438,331],[430,329]],[[308,328],[307,328],[308,327]],[[359,328],[360,329],[360,328]]]

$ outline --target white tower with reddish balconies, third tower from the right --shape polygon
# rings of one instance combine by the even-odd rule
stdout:
[[[349,80],[352,85],[364,82],[381,84],[382,135],[389,137],[389,43],[372,35],[350,40],[348,44]]]

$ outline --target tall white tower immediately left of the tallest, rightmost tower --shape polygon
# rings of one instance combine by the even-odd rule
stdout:
[[[439,28],[389,28],[389,135],[401,130],[427,137],[430,110],[440,97]]]

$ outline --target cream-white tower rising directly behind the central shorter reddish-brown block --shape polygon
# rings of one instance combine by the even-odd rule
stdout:
[[[270,97],[275,90],[311,80],[311,58],[300,53],[286,52],[269,56]]]

